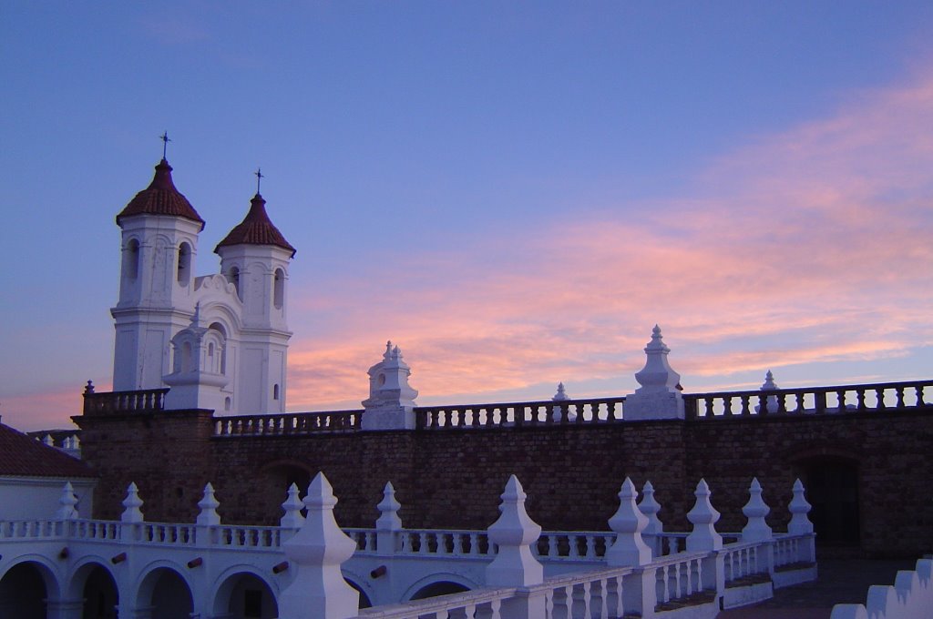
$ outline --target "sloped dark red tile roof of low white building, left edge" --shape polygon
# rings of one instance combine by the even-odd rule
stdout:
[[[83,461],[0,423],[0,475],[96,477]]]

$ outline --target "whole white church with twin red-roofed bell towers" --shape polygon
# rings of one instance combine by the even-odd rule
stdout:
[[[115,392],[169,387],[170,410],[285,412],[292,335],[286,282],[295,248],[272,225],[265,204],[257,187],[243,222],[217,244],[221,272],[194,277],[204,221],[162,158],[152,183],[117,215]]]

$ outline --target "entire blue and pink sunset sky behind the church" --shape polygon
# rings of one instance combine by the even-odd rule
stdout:
[[[933,375],[933,3],[48,2],[0,8],[0,415],[109,389],[114,215],[262,194],[298,248],[288,408]]]

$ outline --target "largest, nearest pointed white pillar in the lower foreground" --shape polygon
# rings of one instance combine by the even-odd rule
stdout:
[[[348,619],[358,614],[359,593],[343,580],[341,564],[353,557],[356,543],[334,519],[333,488],[318,473],[304,498],[308,508],[301,529],[282,544],[294,564],[295,579],[279,597],[281,619]]]

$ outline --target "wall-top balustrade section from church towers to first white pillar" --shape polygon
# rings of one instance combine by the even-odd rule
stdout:
[[[283,436],[359,430],[362,410],[218,417],[215,436]]]

